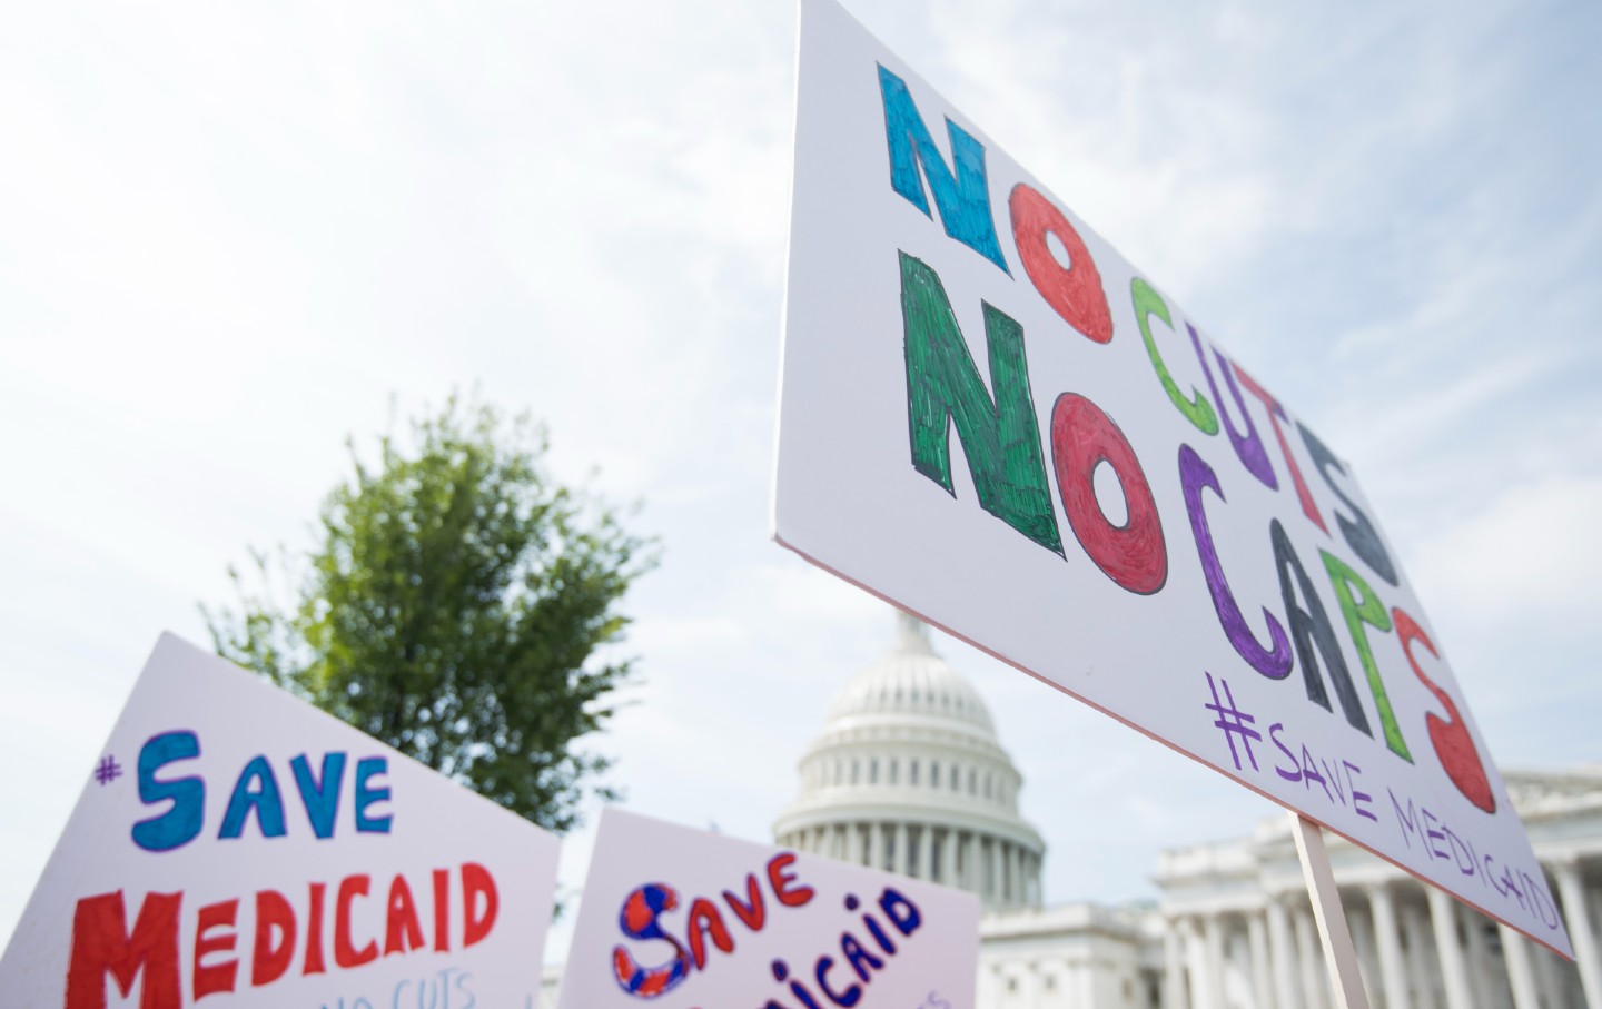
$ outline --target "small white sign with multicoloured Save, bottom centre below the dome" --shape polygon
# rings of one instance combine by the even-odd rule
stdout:
[[[561,1009],[956,1009],[979,898],[617,809],[601,817]]]

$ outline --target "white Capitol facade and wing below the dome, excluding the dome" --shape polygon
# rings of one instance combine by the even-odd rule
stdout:
[[[1568,924],[1576,961],[1330,836],[1331,866],[1375,1009],[1602,1009],[1596,977],[1602,971],[1602,767],[1504,778]],[[1165,852],[1157,884],[1163,892],[1157,908],[1067,905],[987,918],[977,1006],[1334,1007],[1286,817],[1264,820],[1246,838]],[[1086,948],[1099,951],[1086,955]],[[1040,964],[1069,953],[1088,964],[1093,982],[1085,990],[1094,998],[1048,987]]]

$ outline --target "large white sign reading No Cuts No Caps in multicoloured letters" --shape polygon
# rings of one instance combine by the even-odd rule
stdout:
[[[831,0],[798,90],[775,538],[1567,953],[1352,466]]]

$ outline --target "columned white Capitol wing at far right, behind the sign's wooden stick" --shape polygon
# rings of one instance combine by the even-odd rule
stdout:
[[[1602,767],[1504,778],[1568,926],[1575,963],[1330,834],[1376,1009],[1602,1009]],[[1189,995],[1165,1009],[1216,1004],[1219,985],[1229,1009],[1333,1006],[1286,817],[1264,820],[1251,838],[1165,852],[1157,884],[1163,919],[1179,923],[1181,943],[1185,929],[1219,935],[1205,940],[1206,955],[1184,959]],[[1235,975],[1251,983],[1227,988]],[[1171,955],[1165,977],[1173,987]]]

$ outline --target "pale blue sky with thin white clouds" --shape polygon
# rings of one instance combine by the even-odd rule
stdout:
[[[1602,8],[847,8],[1352,461],[1501,767],[1602,761]],[[892,636],[769,540],[791,0],[5,22],[0,943],[157,634],[207,642],[227,565],[311,546],[346,440],[453,391],[543,420],[660,540],[586,742],[609,783],[769,839]],[[1161,849],[1274,812],[937,649],[1024,774],[1048,902],[1153,898]]]

